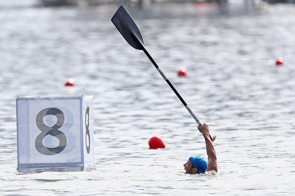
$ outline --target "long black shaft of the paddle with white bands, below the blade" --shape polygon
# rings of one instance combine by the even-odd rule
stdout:
[[[201,126],[202,123],[200,122],[200,120],[196,117],[196,115],[193,113],[193,111],[191,110],[191,108],[189,108],[189,106],[186,104],[186,102],[183,100],[183,98],[180,96],[180,94],[176,91],[176,89],[174,88],[173,84],[169,81],[169,79],[167,78],[167,76],[165,75],[165,73],[162,71],[162,69],[157,65],[157,63],[154,61],[154,59],[150,56],[150,54],[148,53],[148,51],[143,48],[144,53],[146,54],[146,56],[148,56],[148,58],[150,59],[150,61],[153,63],[153,65],[155,66],[155,68],[158,70],[158,72],[161,74],[161,76],[164,78],[164,80],[168,83],[168,85],[172,88],[172,90],[174,91],[174,93],[177,95],[177,97],[180,99],[180,101],[183,103],[183,105],[186,107],[186,109],[189,111],[189,113],[191,114],[191,116],[196,120],[196,122]]]

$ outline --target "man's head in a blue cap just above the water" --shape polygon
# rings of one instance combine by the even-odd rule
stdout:
[[[203,174],[207,170],[207,161],[204,157],[191,156],[183,166],[187,174]]]

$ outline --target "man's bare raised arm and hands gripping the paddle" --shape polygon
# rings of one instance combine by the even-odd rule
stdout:
[[[211,142],[211,138],[209,135],[209,127],[206,123],[202,124],[201,126],[198,126],[199,131],[202,133],[202,135],[205,138],[206,142],[206,150],[208,155],[208,167],[206,171],[215,171],[217,172],[217,158],[216,158],[216,152],[213,146],[213,143]]]

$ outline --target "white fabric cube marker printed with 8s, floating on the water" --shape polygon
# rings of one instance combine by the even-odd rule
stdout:
[[[94,165],[93,96],[21,97],[18,167]]]

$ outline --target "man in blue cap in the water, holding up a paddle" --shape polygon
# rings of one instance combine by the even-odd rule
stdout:
[[[204,157],[191,156],[189,160],[183,164],[186,174],[203,174],[206,171],[217,172],[216,152],[212,143],[212,138],[209,135],[209,127],[206,123],[198,125],[199,131],[205,138],[206,150],[208,155],[208,164]]]

